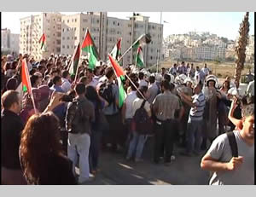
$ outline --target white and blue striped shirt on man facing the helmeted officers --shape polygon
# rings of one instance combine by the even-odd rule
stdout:
[[[195,107],[191,107],[189,117],[191,120],[202,120],[204,108],[206,106],[206,97],[201,92],[199,95],[192,96]]]

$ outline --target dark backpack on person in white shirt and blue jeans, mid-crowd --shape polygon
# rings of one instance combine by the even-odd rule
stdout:
[[[146,100],[143,101],[132,119],[132,130],[137,131],[141,135],[150,135],[153,133],[153,121],[148,117],[147,111],[144,109]]]

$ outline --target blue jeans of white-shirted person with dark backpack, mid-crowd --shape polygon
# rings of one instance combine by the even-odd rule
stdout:
[[[147,141],[146,135],[140,135],[135,131],[132,132],[127,157],[131,158],[132,155],[135,154],[135,159],[140,159],[142,157],[143,148],[146,141]]]

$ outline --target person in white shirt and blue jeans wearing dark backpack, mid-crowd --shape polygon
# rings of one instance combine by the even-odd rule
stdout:
[[[147,86],[142,86],[139,91],[143,94],[144,98],[148,98],[149,92]],[[143,96],[137,91],[137,98],[132,102],[131,120],[131,141],[129,143],[128,154],[126,159],[131,159],[135,154],[135,162],[142,161],[144,144],[147,141],[147,134],[152,129],[151,124],[151,110],[148,101],[144,100]]]

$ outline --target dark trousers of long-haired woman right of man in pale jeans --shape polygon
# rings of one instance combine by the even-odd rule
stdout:
[[[102,130],[92,130],[90,136],[90,170],[96,171],[98,168],[99,154],[101,148]]]

